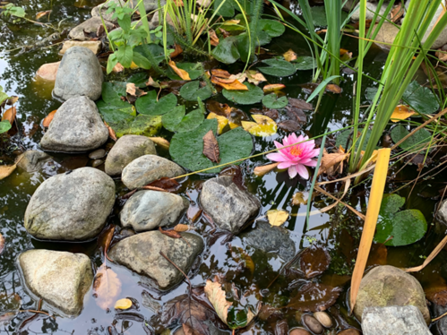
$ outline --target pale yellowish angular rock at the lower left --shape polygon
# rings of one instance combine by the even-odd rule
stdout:
[[[93,271],[84,254],[52,250],[29,250],[20,254],[18,264],[32,294],[68,315],[82,310]]]

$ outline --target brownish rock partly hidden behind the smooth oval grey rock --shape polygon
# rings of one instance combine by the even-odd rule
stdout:
[[[144,155],[156,155],[154,142],[146,136],[124,135],[116,141],[106,159],[106,173],[118,176],[134,159]]]

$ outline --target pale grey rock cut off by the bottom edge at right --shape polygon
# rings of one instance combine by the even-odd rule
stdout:
[[[367,307],[362,316],[364,335],[431,335],[415,306]]]

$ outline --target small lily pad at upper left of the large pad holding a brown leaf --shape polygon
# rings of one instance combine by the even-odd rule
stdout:
[[[200,109],[195,109],[185,115],[185,106],[177,106],[168,114],[163,115],[163,127],[172,132],[185,132],[196,129],[205,119]]]

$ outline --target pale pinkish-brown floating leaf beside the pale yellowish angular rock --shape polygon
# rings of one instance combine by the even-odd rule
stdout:
[[[96,304],[106,310],[113,306],[115,298],[121,293],[121,282],[115,272],[102,264],[96,272],[93,282]]]

